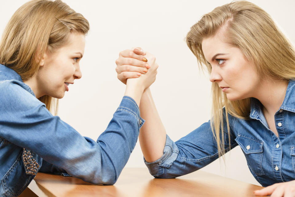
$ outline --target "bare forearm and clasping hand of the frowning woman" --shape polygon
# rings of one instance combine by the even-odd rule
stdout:
[[[140,77],[145,77],[145,75],[152,72],[150,69],[148,72],[143,72],[145,65],[142,64],[141,60],[145,58],[144,55],[147,55],[148,65],[153,67],[155,64],[154,56],[146,54],[146,52],[144,52],[141,48],[138,49],[124,50],[120,52],[119,58],[116,60],[118,79],[123,83],[127,81],[127,85],[129,80],[133,80],[133,77],[137,78],[140,75]],[[153,59],[153,61],[150,59]],[[166,141],[166,131],[149,88],[144,90],[141,97],[140,114],[144,119],[147,119],[144,126],[140,129],[140,147],[145,160],[152,162],[159,159],[163,155],[163,149]]]

